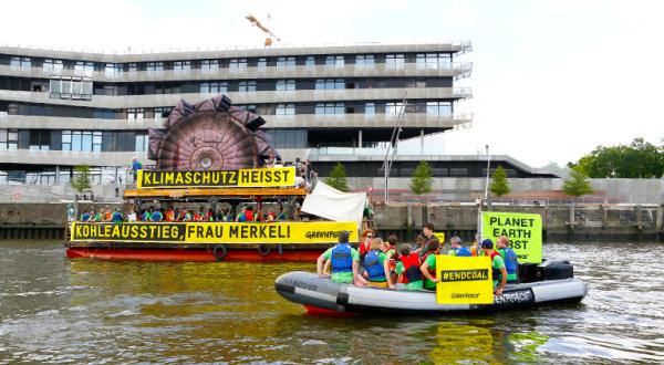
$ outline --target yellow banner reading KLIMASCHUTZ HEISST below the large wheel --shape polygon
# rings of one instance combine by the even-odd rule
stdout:
[[[242,168],[215,171],[138,170],[136,187],[154,188],[221,188],[221,187],[289,187],[295,185],[294,167]]]

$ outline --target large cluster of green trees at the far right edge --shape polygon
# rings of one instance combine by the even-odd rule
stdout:
[[[627,146],[598,146],[569,165],[593,178],[658,178],[664,174],[664,146],[635,138]]]

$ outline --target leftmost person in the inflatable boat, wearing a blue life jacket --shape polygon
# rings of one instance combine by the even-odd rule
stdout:
[[[330,261],[332,281],[346,284],[355,282],[360,267],[360,253],[351,247],[349,238],[349,231],[341,231],[339,233],[339,243],[328,249],[318,258],[315,267],[319,278],[324,278],[323,267],[326,261]]]

